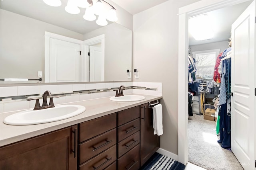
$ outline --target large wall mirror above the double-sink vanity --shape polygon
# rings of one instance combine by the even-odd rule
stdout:
[[[99,26],[95,21],[84,20],[82,10],[77,16],[63,12],[65,6],[66,4],[62,3],[62,6],[54,8],[44,4],[42,0],[0,2],[0,79],[42,78],[42,81],[33,80],[28,81],[29,83],[130,81],[126,71],[132,69],[132,31],[110,21],[104,27]],[[49,48],[45,47],[47,33],[82,42],[79,50],[80,63],[76,63],[79,75],[73,72],[77,77],[75,80],[50,81],[46,77],[48,65],[45,64],[47,63],[45,56],[48,54],[45,51]],[[104,41],[93,42],[94,39],[102,36]],[[59,40],[58,36],[50,38]],[[104,50],[104,59],[98,61],[94,57],[91,59],[94,61],[92,65],[91,55],[89,57],[88,52],[96,51],[95,56],[97,56],[98,47]],[[66,54],[66,51],[61,52]],[[76,53],[80,52],[76,51]],[[58,64],[72,64],[67,61],[61,58]],[[94,72],[100,75],[100,79],[90,74],[92,67],[95,67]],[[61,69],[62,76],[71,74],[69,66],[66,65]],[[39,75],[41,72],[42,76]],[[0,83],[8,82],[0,81]]]

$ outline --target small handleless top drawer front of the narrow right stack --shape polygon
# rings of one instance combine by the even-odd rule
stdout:
[[[140,117],[140,106],[118,112],[118,126]]]

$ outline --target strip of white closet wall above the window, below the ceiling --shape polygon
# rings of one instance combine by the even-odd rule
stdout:
[[[189,48],[191,49],[191,52],[212,50],[212,49],[220,49],[220,52],[223,52],[225,49],[228,48],[228,40],[227,41],[220,41],[220,42],[216,42],[216,43],[191,45],[191,46],[189,46]]]

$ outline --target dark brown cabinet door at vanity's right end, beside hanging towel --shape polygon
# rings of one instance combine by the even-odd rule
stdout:
[[[153,103],[153,102],[152,102]],[[148,104],[140,106],[140,166],[160,147],[160,136],[154,135],[153,109]]]

